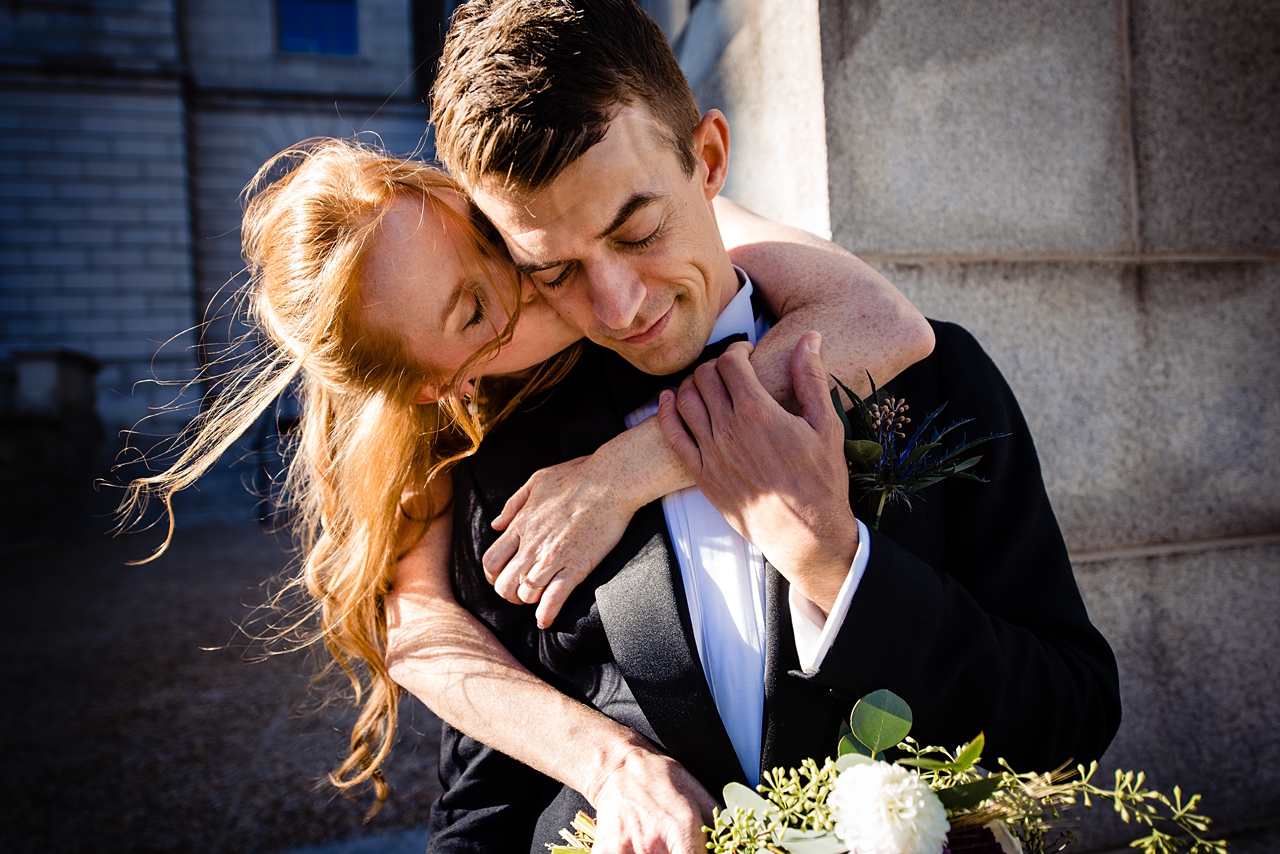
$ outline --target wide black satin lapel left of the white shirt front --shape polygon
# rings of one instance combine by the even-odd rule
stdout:
[[[634,557],[595,592],[613,658],[673,759],[713,793],[746,782],[698,658],[660,502],[636,513],[620,549],[628,543]]]

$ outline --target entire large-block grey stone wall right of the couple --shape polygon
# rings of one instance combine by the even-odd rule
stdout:
[[[1120,659],[1108,766],[1202,791],[1235,850],[1272,850],[1280,4],[820,0],[786,27],[748,5],[716,77],[756,79],[817,27],[826,146],[735,150],[731,192],[813,223],[774,182],[824,174],[835,239],[978,335]],[[819,119],[787,92],[704,106],[758,149]],[[1096,851],[1129,828],[1079,830]]]

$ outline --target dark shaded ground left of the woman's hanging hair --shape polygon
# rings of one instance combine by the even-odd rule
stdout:
[[[351,716],[308,688],[316,658],[260,658],[237,630],[285,566],[257,526],[81,538],[8,556],[0,579],[0,850],[273,853],[388,837],[426,822],[436,720],[404,704],[390,803],[325,773]]]

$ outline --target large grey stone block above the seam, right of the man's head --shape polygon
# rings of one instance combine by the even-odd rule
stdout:
[[[1116,3],[822,6],[836,242],[892,254],[1133,248]]]

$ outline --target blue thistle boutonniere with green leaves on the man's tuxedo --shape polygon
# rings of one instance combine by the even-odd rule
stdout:
[[[832,389],[831,399],[845,425],[849,479],[863,490],[873,529],[879,529],[886,504],[902,502],[910,508],[911,495],[941,480],[957,478],[987,483],[970,471],[982,456],[966,455],[979,444],[1004,438],[1007,433],[992,433],[973,440],[961,435],[959,444],[948,449],[943,447],[943,438],[973,419],[952,421],[940,428],[938,416],[947,406],[943,403],[910,428],[913,417],[908,412],[911,407],[906,399],[891,397],[884,389],[876,388],[870,374],[867,379],[872,384],[872,393],[865,399],[840,382],[838,376],[832,375],[832,379],[854,402],[854,408],[845,412],[840,391]]]

